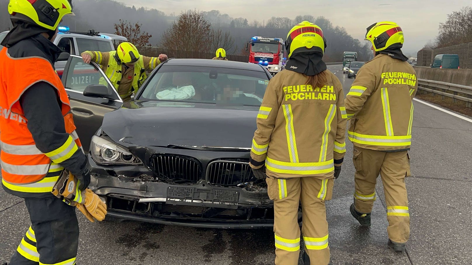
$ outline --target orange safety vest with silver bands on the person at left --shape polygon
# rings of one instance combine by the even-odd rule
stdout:
[[[46,174],[61,171],[63,167],[53,163],[50,157],[36,148],[19,99],[34,83],[50,83],[57,89],[62,102],[61,112],[66,132],[71,135],[77,147],[81,148],[72,114],[69,113],[67,92],[51,62],[45,58],[12,58],[8,55],[7,48],[3,48],[0,51],[0,69],[0,162],[3,181],[25,188],[31,186],[31,189],[22,189],[25,192],[44,192],[45,188],[49,189],[54,183],[41,183],[41,180]],[[37,187],[31,184],[36,182]]]

